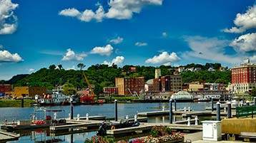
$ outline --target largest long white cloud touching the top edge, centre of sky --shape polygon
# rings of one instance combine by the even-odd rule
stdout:
[[[109,9],[104,11],[103,6],[97,3],[99,8],[94,12],[92,9],[78,11],[77,9],[64,9],[59,12],[61,16],[77,17],[81,21],[102,21],[103,18],[129,19],[134,13],[139,14],[147,5],[162,5],[163,0],[110,0]]]

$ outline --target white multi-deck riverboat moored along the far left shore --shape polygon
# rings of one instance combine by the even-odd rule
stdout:
[[[35,101],[31,105],[70,105],[70,97],[63,94],[63,90],[52,90],[51,94],[35,95]]]

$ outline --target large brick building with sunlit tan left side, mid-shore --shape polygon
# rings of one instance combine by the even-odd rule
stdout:
[[[144,92],[144,77],[141,78],[115,78],[118,95],[139,95]]]

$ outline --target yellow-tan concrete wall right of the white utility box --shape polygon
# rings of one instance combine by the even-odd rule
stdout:
[[[240,132],[256,132],[256,119],[222,120],[222,133],[240,134]]]

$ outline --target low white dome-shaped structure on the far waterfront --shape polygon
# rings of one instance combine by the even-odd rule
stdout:
[[[193,101],[193,95],[191,95],[187,91],[179,91],[172,95],[171,97],[173,100],[176,100],[177,102],[192,102]]]

